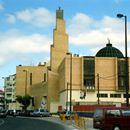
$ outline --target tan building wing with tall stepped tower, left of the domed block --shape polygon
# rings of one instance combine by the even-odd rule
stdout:
[[[57,111],[59,105],[58,67],[68,52],[68,35],[63,10],[60,8],[56,12],[56,28],[53,35],[50,64],[16,67],[16,95],[27,93],[34,98],[34,108],[46,107],[50,111]]]

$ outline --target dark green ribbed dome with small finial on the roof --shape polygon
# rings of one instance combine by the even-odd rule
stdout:
[[[112,47],[111,43],[106,44],[106,47],[99,50],[96,57],[124,57],[122,52],[115,47]]]

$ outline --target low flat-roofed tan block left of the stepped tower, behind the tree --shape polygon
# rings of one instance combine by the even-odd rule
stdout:
[[[32,106],[30,109],[42,107],[46,103],[47,65],[17,66],[16,67],[16,96],[30,95]],[[46,107],[46,106],[43,106]]]

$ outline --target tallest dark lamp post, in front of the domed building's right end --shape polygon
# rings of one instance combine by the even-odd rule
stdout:
[[[127,16],[123,14],[117,14],[118,18],[125,18],[125,76],[126,76],[126,106],[129,106],[129,77],[128,77],[128,57],[127,57]]]

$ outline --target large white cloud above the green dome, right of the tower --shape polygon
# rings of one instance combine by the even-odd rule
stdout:
[[[129,26],[128,30],[130,30]],[[124,48],[124,21],[110,16],[96,20],[86,14],[78,13],[68,23],[68,34],[71,44],[78,47],[87,46],[92,54],[97,47],[105,47],[108,38],[113,46]],[[130,42],[129,37],[128,42]]]

